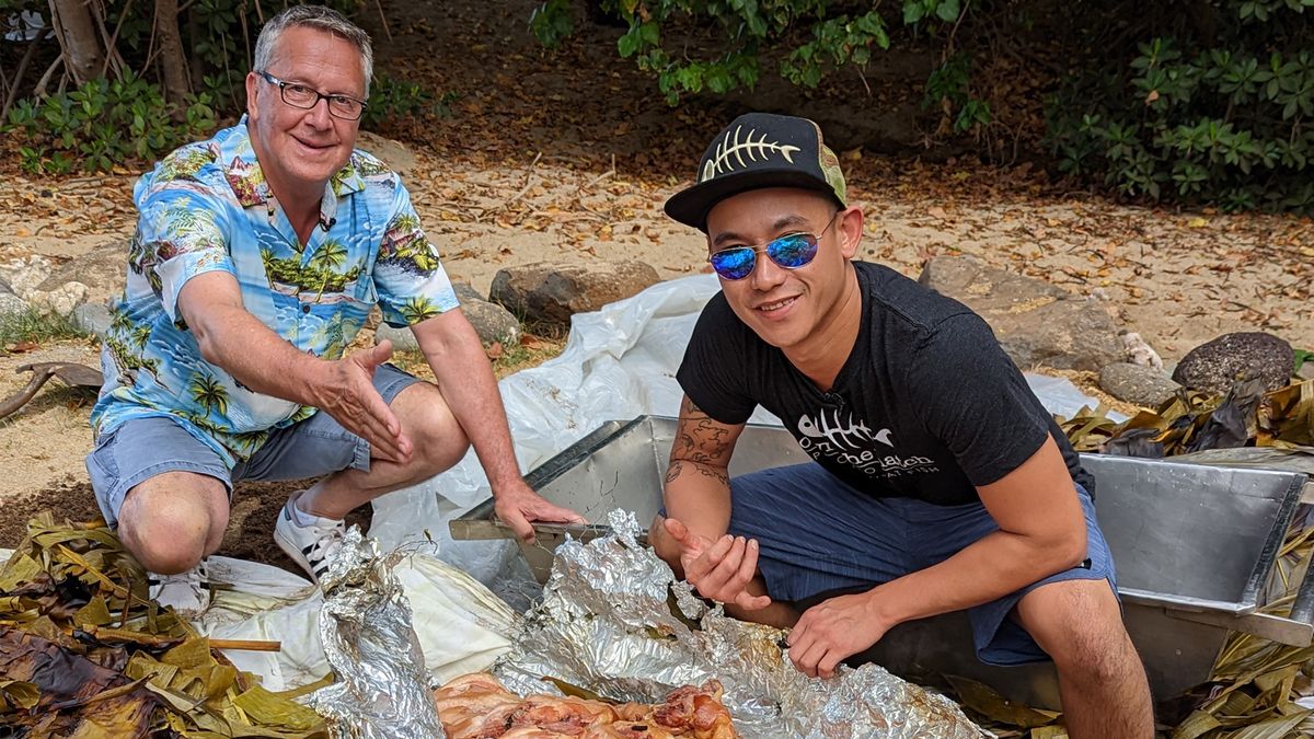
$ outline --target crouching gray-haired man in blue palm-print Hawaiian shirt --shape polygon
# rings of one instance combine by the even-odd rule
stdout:
[[[127,288],[105,338],[87,459],[96,498],[185,615],[209,605],[238,480],[322,477],[275,540],[318,581],[343,517],[432,477],[473,446],[498,515],[582,522],[526,485],[487,356],[399,178],[355,150],[369,37],[328,8],[269,20],[247,114],[137,184]],[[373,306],[410,326],[438,384],[348,352]]]

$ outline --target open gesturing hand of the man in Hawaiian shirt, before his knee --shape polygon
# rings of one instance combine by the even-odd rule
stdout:
[[[402,434],[393,409],[374,389],[374,370],[392,355],[392,342],[384,341],[328,363],[315,391],[315,406],[369,442],[372,456],[405,464],[410,462],[411,442]]]

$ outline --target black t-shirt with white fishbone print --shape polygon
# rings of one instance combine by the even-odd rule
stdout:
[[[862,327],[834,387],[821,392],[731,310],[703,309],[677,379],[721,423],[761,405],[812,459],[858,490],[937,505],[980,500],[1053,435],[1072,479],[1091,476],[993,331],[963,304],[854,262]]]

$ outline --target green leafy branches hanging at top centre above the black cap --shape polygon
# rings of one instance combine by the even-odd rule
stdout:
[[[784,79],[812,88],[842,67],[866,67],[891,45],[890,21],[878,5],[854,13],[829,0],[602,0],[606,12],[629,24],[616,42],[618,54],[652,74],[671,105],[689,93],[752,89],[763,57]],[[934,34],[959,20],[967,0],[903,0],[900,8],[904,26]],[[673,26],[699,29],[703,46],[715,51],[699,58],[686,39],[664,38],[662,29]],[[545,46],[561,43],[574,29],[570,3],[547,0],[533,11],[530,28]],[[989,121],[988,107],[967,95],[966,82],[932,103],[953,109],[958,130]]]

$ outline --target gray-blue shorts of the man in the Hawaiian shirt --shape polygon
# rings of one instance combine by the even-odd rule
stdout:
[[[374,371],[374,389],[388,404],[419,383],[392,364]],[[164,472],[196,472],[223,483],[233,494],[240,480],[304,480],[353,468],[369,471],[369,442],[342,427],[327,413],[279,429],[251,459],[231,469],[222,456],[167,416],[131,418],[96,439],[87,473],[96,504],[112,527],[127,490]]]

